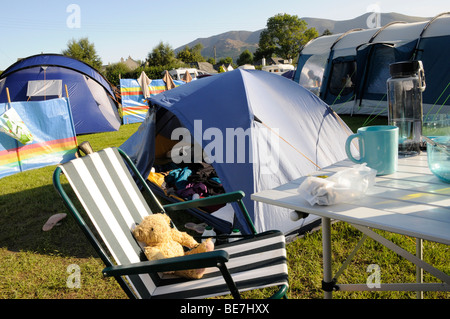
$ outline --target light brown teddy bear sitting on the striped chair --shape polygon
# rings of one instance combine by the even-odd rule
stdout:
[[[214,250],[214,243],[210,238],[199,244],[188,233],[171,227],[170,217],[166,214],[158,213],[144,217],[134,228],[133,235],[137,241],[145,245],[144,253],[150,261]],[[183,246],[190,250],[185,252]],[[205,269],[201,268],[179,270],[173,274],[189,279],[200,279],[204,272]]]

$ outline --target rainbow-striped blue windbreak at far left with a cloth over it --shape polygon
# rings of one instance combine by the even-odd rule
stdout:
[[[33,141],[24,145],[0,132],[0,178],[75,158],[77,138],[67,98],[1,103],[0,114],[10,108],[26,124]]]

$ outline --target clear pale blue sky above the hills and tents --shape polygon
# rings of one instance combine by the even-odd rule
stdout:
[[[0,70],[17,58],[61,53],[69,40],[82,37],[107,64],[145,59],[160,41],[175,49],[227,31],[256,31],[277,13],[347,20],[372,8],[420,17],[450,11],[448,0],[2,1]]]

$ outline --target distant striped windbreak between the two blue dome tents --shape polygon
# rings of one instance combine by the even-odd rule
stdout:
[[[185,84],[184,81],[173,81],[175,86]],[[166,83],[162,79],[151,80],[148,86],[150,96],[166,91]],[[143,122],[148,111],[148,104],[144,98],[139,82],[135,79],[120,80],[120,94],[122,96],[123,124]]]

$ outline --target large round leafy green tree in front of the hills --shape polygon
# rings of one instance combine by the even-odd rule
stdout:
[[[266,29],[259,37],[259,48],[255,57],[271,57],[273,54],[293,59],[309,40],[319,36],[315,28],[307,28],[307,23],[296,15],[277,14],[267,20]]]

